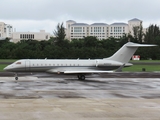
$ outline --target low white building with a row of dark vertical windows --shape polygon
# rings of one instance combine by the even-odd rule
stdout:
[[[50,33],[45,32],[45,30],[40,30],[40,32],[13,32],[12,34],[12,42],[16,43],[20,40],[49,40]]]

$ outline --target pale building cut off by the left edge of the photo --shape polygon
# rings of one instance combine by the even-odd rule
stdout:
[[[0,22],[0,38],[11,38],[13,32],[13,27],[4,22]]]

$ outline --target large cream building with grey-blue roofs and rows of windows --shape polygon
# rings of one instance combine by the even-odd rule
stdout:
[[[76,23],[73,20],[66,21],[66,38],[69,40],[80,39],[87,36],[96,36],[98,39],[107,39],[109,37],[120,38],[124,34],[133,35],[133,27],[140,26],[142,21],[134,18],[127,23]]]

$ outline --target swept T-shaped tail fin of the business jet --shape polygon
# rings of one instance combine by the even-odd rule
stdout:
[[[152,47],[156,45],[148,45],[148,44],[137,44],[128,42],[125,45],[123,45],[114,55],[112,55],[109,58],[104,58],[107,60],[114,60],[121,63],[128,63],[128,61],[131,59],[133,54],[136,52],[138,47]]]

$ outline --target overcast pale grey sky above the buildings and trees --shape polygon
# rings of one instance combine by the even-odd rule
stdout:
[[[53,34],[58,23],[128,23],[138,18],[143,27],[160,25],[160,0],[1,0],[0,22],[17,32]]]

